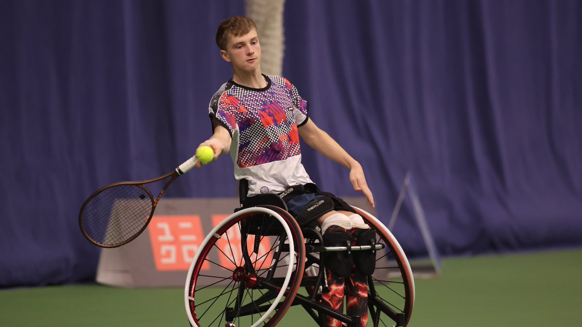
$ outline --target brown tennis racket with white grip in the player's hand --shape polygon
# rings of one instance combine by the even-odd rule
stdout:
[[[81,232],[91,243],[100,247],[118,247],[134,240],[150,223],[155,207],[168,186],[197,162],[198,158],[194,156],[173,172],[156,179],[115,183],[91,194],[79,213]],[[163,184],[165,179],[168,182]],[[154,200],[147,187],[151,189],[160,183],[164,187]]]

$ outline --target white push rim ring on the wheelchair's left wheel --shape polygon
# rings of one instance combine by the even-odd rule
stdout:
[[[279,215],[278,213],[276,213],[275,211],[272,211],[271,209],[267,209],[267,208],[253,207],[253,208],[242,209],[242,210],[237,211],[234,214],[228,216],[222,222],[218,223],[218,225],[215,226],[215,228],[213,228],[211,230],[211,232],[208,233],[208,235],[204,238],[204,240],[200,244],[200,247],[198,247],[198,251],[196,251],[196,255],[194,255],[194,259],[190,263],[190,268],[188,269],[188,275],[186,276],[186,284],[184,285],[184,306],[186,307],[186,314],[188,315],[188,320],[190,321],[190,325],[201,327],[200,325],[196,324],[196,322],[194,322],[194,318],[192,317],[192,314],[190,312],[190,305],[189,305],[190,304],[189,301],[194,300],[194,299],[190,298],[190,296],[188,295],[189,289],[190,289],[190,278],[192,277],[192,272],[194,270],[194,266],[196,265],[196,262],[198,262],[198,257],[200,257],[200,254],[201,254],[202,250],[204,250],[204,247],[206,246],[208,241],[210,241],[210,239],[212,237],[215,237],[216,232],[219,229],[221,229],[222,226],[226,225],[226,223],[230,222],[232,219],[234,219],[240,215],[247,214],[248,212],[263,212],[264,214],[268,214],[268,215],[273,216],[275,219],[277,219],[279,222],[281,222],[283,229],[285,229],[285,233],[287,233],[287,238],[289,240],[293,240],[291,237],[292,236],[291,230],[289,229],[289,226],[287,225],[287,222],[285,221],[285,219],[283,219],[282,216]],[[289,253],[295,253],[295,246],[293,244],[293,241],[289,242]],[[285,293],[285,290],[287,289],[287,286],[289,285],[289,280],[291,279],[291,274],[293,273],[293,266],[296,264],[296,262],[294,262],[295,255],[290,255],[289,257],[293,258],[292,259],[293,262],[289,262],[289,268],[287,268],[287,274],[285,275],[285,281],[283,282],[283,285],[281,287],[281,292],[279,292],[278,296],[275,298],[275,301],[273,301],[273,304],[271,304],[271,307],[269,307],[268,310],[262,315],[262,317],[257,322],[255,322],[255,324],[253,324],[251,327],[257,327],[259,324],[261,324],[263,321],[265,321],[265,319],[267,319],[267,317],[269,317],[269,315],[271,315],[271,312],[273,312],[275,310],[275,307],[277,304],[279,304],[279,301],[281,301],[281,298],[283,297],[283,294]]]

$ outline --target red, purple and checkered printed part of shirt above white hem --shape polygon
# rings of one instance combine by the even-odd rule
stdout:
[[[240,168],[301,154],[295,112],[306,116],[307,102],[299,94],[293,99],[293,86],[279,79],[262,90],[232,85],[218,100],[215,116],[230,133],[239,130],[236,163]],[[303,108],[296,108],[294,102]]]

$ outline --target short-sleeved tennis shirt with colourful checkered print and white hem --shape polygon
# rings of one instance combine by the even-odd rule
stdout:
[[[263,75],[264,88],[229,80],[209,105],[212,130],[218,123],[232,137],[235,178],[249,180],[249,194],[279,193],[312,183],[303,165],[297,127],[307,123],[307,101],[279,76]]]

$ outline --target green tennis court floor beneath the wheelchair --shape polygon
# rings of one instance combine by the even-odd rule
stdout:
[[[582,326],[582,250],[443,260],[416,280],[409,326]],[[0,326],[189,326],[183,289],[0,290]],[[293,307],[278,326],[315,326]],[[243,327],[243,326],[240,326]]]

